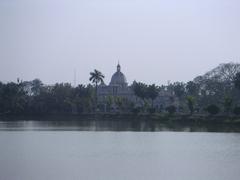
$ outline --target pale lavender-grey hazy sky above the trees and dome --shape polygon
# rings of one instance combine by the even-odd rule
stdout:
[[[239,0],[0,0],[0,81],[188,81],[240,62]]]

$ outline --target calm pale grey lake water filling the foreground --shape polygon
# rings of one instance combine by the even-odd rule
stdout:
[[[0,179],[238,180],[240,177],[239,133],[191,132],[191,127],[182,127],[181,132],[144,123],[137,124],[138,129],[135,126],[124,129],[118,127],[119,122],[102,123],[0,122]]]

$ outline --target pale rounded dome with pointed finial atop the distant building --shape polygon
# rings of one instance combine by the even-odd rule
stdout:
[[[117,72],[115,72],[112,76],[111,86],[127,86],[127,80],[125,75],[121,72],[121,66],[118,64]]]

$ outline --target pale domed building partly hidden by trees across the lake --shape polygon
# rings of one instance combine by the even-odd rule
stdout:
[[[127,83],[126,76],[121,72],[120,64],[117,65],[117,71],[112,75],[109,85],[102,83],[97,90],[98,101],[102,105],[106,105],[109,98],[124,98],[133,102],[135,106],[140,106],[141,100],[137,98],[133,92],[132,85]],[[169,105],[177,106],[177,98],[173,92],[162,90],[154,101],[154,107],[164,110]],[[113,108],[114,107],[113,103]],[[106,109],[106,108],[105,108]]]

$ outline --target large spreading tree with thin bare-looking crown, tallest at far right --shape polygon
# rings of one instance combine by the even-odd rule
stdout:
[[[240,72],[240,64],[225,63],[196,77],[193,82],[199,86],[198,105],[204,107],[206,104],[223,104],[226,95],[236,102],[239,101],[240,94],[236,91],[238,72]]]

